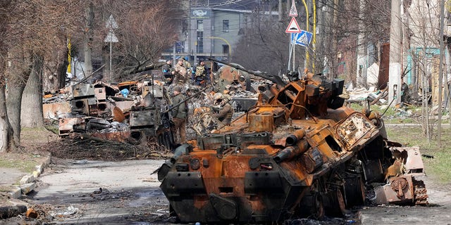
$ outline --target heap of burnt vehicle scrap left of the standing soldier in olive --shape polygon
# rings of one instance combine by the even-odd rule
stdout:
[[[62,98],[47,96],[44,115],[59,120],[59,135],[91,134],[101,139],[142,143],[150,137],[172,148],[168,94],[156,80],[119,84],[78,82],[64,89]],[[63,101],[61,101],[63,100]],[[44,100],[44,103],[46,101]]]

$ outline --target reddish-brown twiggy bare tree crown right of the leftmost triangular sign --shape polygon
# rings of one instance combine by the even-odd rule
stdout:
[[[116,49],[115,72],[121,79],[154,63],[161,52],[178,40],[178,26],[183,15],[175,1],[142,2],[124,8],[118,23],[121,42]]]

